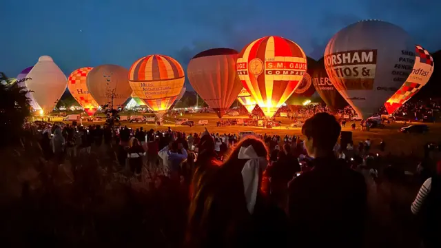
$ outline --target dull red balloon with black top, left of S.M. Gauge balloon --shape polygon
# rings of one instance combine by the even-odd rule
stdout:
[[[238,52],[214,48],[196,54],[187,68],[188,79],[219,118],[227,112],[243,85],[236,74]]]

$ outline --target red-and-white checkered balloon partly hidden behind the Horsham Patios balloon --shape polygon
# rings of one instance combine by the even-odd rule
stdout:
[[[395,112],[401,105],[407,102],[421,88],[426,85],[433,73],[433,58],[421,45],[416,45],[415,65],[406,82],[386,103],[384,107],[389,114]]]

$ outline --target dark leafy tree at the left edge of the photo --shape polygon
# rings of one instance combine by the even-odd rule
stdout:
[[[8,81],[8,76],[0,72],[0,81],[3,80]],[[18,83],[0,84],[0,146],[18,142],[23,134],[23,124],[30,116],[30,99],[26,93]]]

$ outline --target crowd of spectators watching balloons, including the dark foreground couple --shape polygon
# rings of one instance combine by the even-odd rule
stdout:
[[[154,172],[183,188],[189,198],[186,247],[362,247],[368,208],[363,173],[380,183],[378,174],[393,169],[375,163],[369,139],[357,148],[340,147],[340,123],[322,111],[305,111],[314,114],[302,138],[55,125],[41,131],[40,145],[58,164],[88,156],[92,146],[113,149],[117,173],[143,180]],[[426,199],[430,218],[438,220],[432,164],[428,158],[420,165],[424,185],[409,211],[426,213]],[[426,247],[440,247],[438,236],[424,238]]]

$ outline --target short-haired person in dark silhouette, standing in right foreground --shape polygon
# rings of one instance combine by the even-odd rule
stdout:
[[[302,126],[313,169],[289,184],[288,213],[296,247],[362,247],[367,211],[365,178],[338,160],[341,127],[318,113]]]

